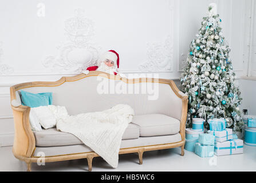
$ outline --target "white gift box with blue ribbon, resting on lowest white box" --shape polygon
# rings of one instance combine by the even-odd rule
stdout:
[[[222,131],[208,130],[207,133],[214,135],[216,142],[224,142],[237,138],[237,135],[233,134],[233,130],[231,128],[226,128],[225,130]]]

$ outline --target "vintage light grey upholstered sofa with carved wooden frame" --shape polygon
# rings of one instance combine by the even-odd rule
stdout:
[[[121,92],[111,91],[111,88],[120,86],[123,87]],[[145,91],[149,86],[151,90],[155,87],[157,97],[150,98],[152,91]],[[90,71],[89,74],[62,77],[55,82],[26,82],[10,87],[15,128],[13,154],[26,162],[27,171],[31,171],[32,162],[42,158],[42,153],[45,162],[87,158],[89,171],[92,170],[93,158],[99,155],[73,134],[59,132],[56,128],[31,130],[30,108],[22,105],[20,90],[52,92],[53,105],[65,106],[70,115],[128,104],[135,111],[135,116],[123,134],[119,154],[138,153],[139,164],[143,163],[143,153],[150,150],[181,147],[181,155],[184,155],[188,97],[179,91],[174,81],[127,79],[120,75]]]

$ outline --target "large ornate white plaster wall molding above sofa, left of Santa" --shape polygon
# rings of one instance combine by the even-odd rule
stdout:
[[[76,9],[75,13],[74,17],[64,22],[68,42],[58,47],[57,57],[49,55],[42,61],[44,67],[54,71],[69,70],[81,73],[87,67],[95,65],[100,47],[92,43],[93,21],[84,17],[82,9]]]

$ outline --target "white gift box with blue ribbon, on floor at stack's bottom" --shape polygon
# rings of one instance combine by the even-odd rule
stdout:
[[[243,153],[243,141],[240,139],[225,142],[215,142],[214,154],[216,156]]]

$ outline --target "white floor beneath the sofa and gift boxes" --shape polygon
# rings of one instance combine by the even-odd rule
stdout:
[[[26,171],[26,164],[17,160],[11,146],[0,148],[0,171]],[[243,154],[201,158],[185,150],[180,156],[180,148],[156,150],[143,154],[143,165],[138,156],[122,154],[118,168],[113,169],[102,158],[93,159],[92,171],[256,171],[256,147],[244,145]],[[33,163],[32,171],[87,171],[87,160],[48,162],[44,166]]]

